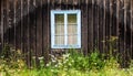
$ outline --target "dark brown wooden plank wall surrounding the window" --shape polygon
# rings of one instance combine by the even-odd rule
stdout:
[[[117,36],[113,53],[120,54],[126,65],[133,57],[132,4],[133,0],[1,0],[1,48],[4,44],[20,48],[27,53],[28,65],[32,56],[44,56],[44,61],[49,61],[49,54],[66,51],[51,50],[50,11],[80,9],[80,52],[88,55],[99,48],[109,54],[109,40]]]

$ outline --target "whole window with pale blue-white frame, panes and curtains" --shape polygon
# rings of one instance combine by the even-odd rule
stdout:
[[[81,11],[51,11],[51,47],[81,48]]]

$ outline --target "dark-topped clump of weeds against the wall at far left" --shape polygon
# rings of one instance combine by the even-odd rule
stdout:
[[[0,70],[16,69],[25,67],[24,56],[20,50],[14,50],[6,44],[0,54]]]

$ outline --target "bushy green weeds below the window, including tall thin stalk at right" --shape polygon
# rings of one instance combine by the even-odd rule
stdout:
[[[100,54],[99,50],[95,47],[93,53],[84,56],[76,50],[70,50],[68,53],[62,54],[62,56],[57,57],[51,55],[51,62],[47,64],[47,67],[64,69],[74,68],[78,70],[90,70],[90,69],[102,69],[110,65],[111,67],[119,67],[116,58],[112,55],[114,48],[112,45],[115,44],[117,37],[112,36],[108,42],[110,43],[110,54],[106,58],[104,54]]]

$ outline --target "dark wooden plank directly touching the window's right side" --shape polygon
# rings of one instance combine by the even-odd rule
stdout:
[[[83,51],[83,54],[84,55],[88,55],[88,37],[89,37],[89,34],[88,34],[88,4],[85,3],[85,0],[82,0],[82,2],[84,4],[82,4],[81,7],[81,34],[82,34],[82,51]]]

